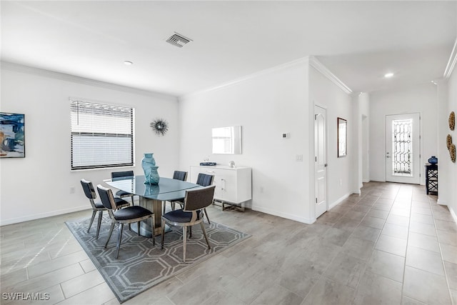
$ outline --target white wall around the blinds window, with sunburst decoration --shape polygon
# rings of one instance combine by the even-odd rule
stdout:
[[[171,176],[178,166],[175,97],[3,64],[1,111],[25,114],[26,158],[0,159],[1,225],[89,209],[79,180],[96,185],[110,177],[112,169],[70,171],[69,96],[134,106],[136,174],[143,173],[144,152],[154,152],[162,176]],[[169,121],[166,136],[151,130],[156,118]]]

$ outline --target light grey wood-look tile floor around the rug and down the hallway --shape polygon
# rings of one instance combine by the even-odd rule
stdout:
[[[1,227],[1,304],[119,304],[64,224],[90,215]],[[457,226],[423,186],[370,182],[312,225],[209,215],[251,238],[124,304],[457,304]]]

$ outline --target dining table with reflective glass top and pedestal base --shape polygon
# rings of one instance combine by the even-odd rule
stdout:
[[[104,180],[109,186],[139,196],[139,205],[154,213],[154,228],[146,221],[141,222],[140,234],[151,237],[161,234],[161,216],[164,201],[183,199],[186,190],[199,188],[199,184],[160,177],[159,184],[145,182],[144,176],[126,176]],[[135,230],[136,226],[132,226]]]

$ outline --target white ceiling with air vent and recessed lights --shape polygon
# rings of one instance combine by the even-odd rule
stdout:
[[[456,1],[1,1],[1,60],[181,96],[316,56],[354,92],[443,77]],[[174,31],[193,39],[166,43]],[[133,61],[126,66],[124,61]],[[388,71],[392,79],[383,79]]]

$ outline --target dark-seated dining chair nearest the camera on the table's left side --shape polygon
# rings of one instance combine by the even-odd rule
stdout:
[[[97,191],[99,191],[99,196],[101,203],[108,210],[109,217],[111,218],[111,226],[109,228],[108,239],[106,240],[105,248],[108,246],[109,239],[111,239],[111,234],[113,234],[113,229],[115,224],[119,224],[119,236],[117,239],[117,250],[116,250],[116,259],[119,257],[119,249],[121,248],[121,239],[122,239],[122,230],[124,229],[124,224],[130,224],[136,222],[138,225],[138,235],[140,235],[140,222],[145,219],[151,219],[151,228],[154,228],[154,217],[153,213],[149,209],[144,208],[143,206],[128,206],[124,209],[116,210],[116,201],[114,200],[113,192],[111,189],[97,185]],[[156,245],[156,238],[154,234],[151,236],[152,244]]]

